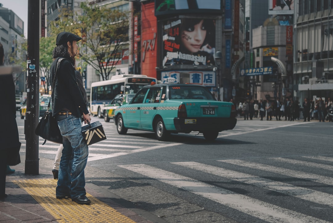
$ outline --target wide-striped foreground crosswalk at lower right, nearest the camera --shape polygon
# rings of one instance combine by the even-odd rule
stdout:
[[[302,158],[272,157],[264,159],[264,162],[273,161],[273,163],[282,164],[288,162],[312,169],[333,170],[332,157],[310,157],[312,160],[317,159],[326,164],[304,161]],[[214,165],[192,161],[170,162],[168,165],[170,168],[166,165],[159,168],[147,164],[119,165],[119,167],[139,174],[137,178],[142,178],[140,175],[143,175],[153,181],[160,181],[214,201],[222,207],[239,211],[245,215],[240,219],[247,219],[246,215],[248,215],[258,219],[255,220],[256,222],[333,222],[332,174],[325,176],[325,174],[314,174],[240,159],[215,160],[212,163]],[[182,167],[182,169],[179,170],[174,166]],[[207,176],[203,176],[204,174]],[[323,187],[325,190],[321,190]],[[247,192],[244,193],[244,191]],[[202,205],[204,203],[203,201]],[[318,210],[315,211],[316,209]],[[224,212],[224,208],[220,210],[221,214],[230,215],[230,211]],[[244,222],[238,219],[239,216],[228,217]]]

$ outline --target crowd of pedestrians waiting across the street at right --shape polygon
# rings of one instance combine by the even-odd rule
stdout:
[[[286,98],[284,101],[280,101],[279,98],[275,100],[263,100],[260,98],[259,101],[244,100],[238,103],[231,99],[230,102],[235,105],[237,116],[243,117],[244,120],[252,120],[253,118],[264,120],[266,118],[267,121],[271,121],[275,117],[277,121],[281,121],[283,118],[285,121],[294,121],[300,120],[302,112],[304,122],[311,120],[330,122],[328,113],[333,110],[331,98],[328,98],[327,101],[322,98],[315,101],[305,98],[302,104],[292,98]]]

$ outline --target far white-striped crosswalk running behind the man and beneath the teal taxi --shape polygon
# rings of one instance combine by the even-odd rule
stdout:
[[[293,122],[289,124],[284,122],[260,122],[258,120],[252,121],[250,126],[248,123],[249,122],[239,122],[234,129],[220,132],[218,138],[304,124],[303,122]],[[158,141],[155,139],[154,133],[139,130],[129,129],[127,135],[119,135],[116,126],[111,122],[103,124],[103,128],[107,139],[89,146],[90,152],[88,162],[182,144],[174,143],[172,140],[171,142]],[[24,136],[24,127],[19,126],[18,129],[22,148],[24,148],[26,142]],[[189,134],[172,134],[171,136],[175,139],[185,138],[188,140],[191,140],[192,137],[201,137],[201,139],[204,141],[203,135],[198,134],[198,132],[191,132]],[[59,147],[58,144],[47,141],[45,145],[42,145],[43,142],[44,139],[39,138],[40,156],[43,156],[44,154],[56,154],[56,151]]]

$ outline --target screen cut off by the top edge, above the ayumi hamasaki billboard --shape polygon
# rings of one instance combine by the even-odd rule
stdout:
[[[155,15],[221,13],[221,0],[155,0]]]

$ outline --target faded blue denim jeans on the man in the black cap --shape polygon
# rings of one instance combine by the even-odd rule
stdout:
[[[57,115],[56,120],[63,136],[56,196],[72,198],[86,195],[84,169],[88,160],[88,146],[81,132],[81,118]]]

